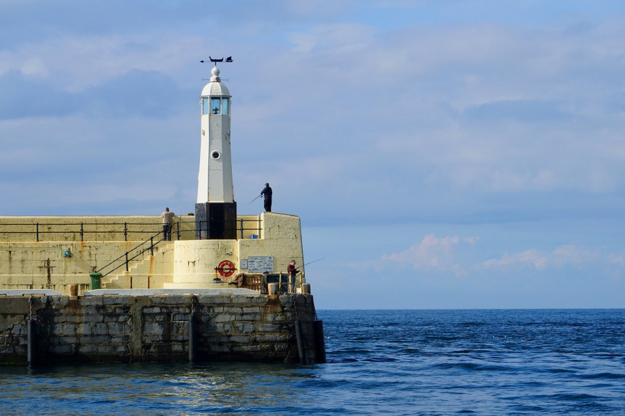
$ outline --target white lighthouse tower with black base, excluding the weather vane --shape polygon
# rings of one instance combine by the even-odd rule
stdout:
[[[213,68],[202,89],[200,166],[195,204],[197,239],[236,239],[237,204],[234,200],[230,150],[231,95]]]

